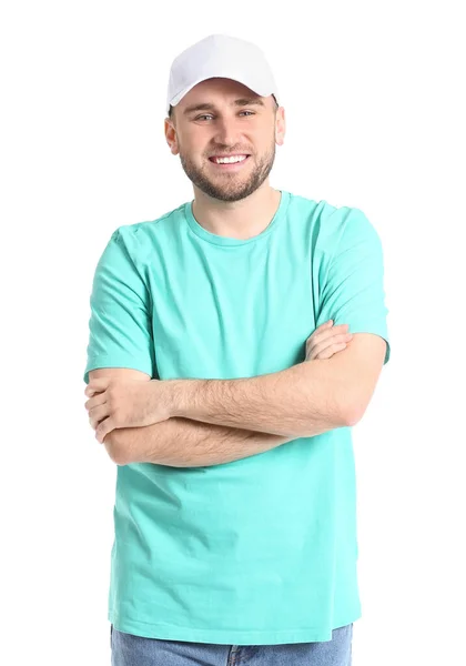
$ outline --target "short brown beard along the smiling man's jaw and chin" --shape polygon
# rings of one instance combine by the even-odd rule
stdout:
[[[219,152],[222,152],[222,150],[219,150]],[[253,161],[254,157],[251,154],[247,159]],[[201,168],[197,167],[180,149],[181,165],[190,181],[202,192],[219,201],[240,201],[255,192],[270,174],[274,160],[275,140],[272,141],[269,151],[260,160],[254,160],[252,165],[249,164],[245,167],[250,169],[247,178],[241,171],[237,173],[229,173],[226,171],[221,173],[219,171],[215,174],[209,164]]]

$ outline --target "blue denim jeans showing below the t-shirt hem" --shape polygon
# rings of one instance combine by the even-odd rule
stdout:
[[[161,640],[110,626],[112,666],[352,666],[353,623],[324,643],[216,645]]]

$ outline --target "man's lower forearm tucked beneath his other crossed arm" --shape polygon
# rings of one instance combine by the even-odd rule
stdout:
[[[155,463],[203,467],[231,463],[290,442],[290,437],[174,417],[110,433],[111,457],[120,465]]]

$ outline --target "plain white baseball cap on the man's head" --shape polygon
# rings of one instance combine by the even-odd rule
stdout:
[[[175,107],[194,85],[214,77],[239,81],[261,97],[273,94],[280,104],[275,79],[262,50],[236,37],[210,34],[173,60],[166,114],[170,105]]]

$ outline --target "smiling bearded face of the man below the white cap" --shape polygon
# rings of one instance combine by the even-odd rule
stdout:
[[[193,109],[193,107],[201,107]],[[284,137],[284,110],[232,79],[201,81],[165,120],[172,153],[202,192],[220,201],[239,201],[267,178],[275,143]],[[219,155],[247,155],[235,164],[216,164]]]

